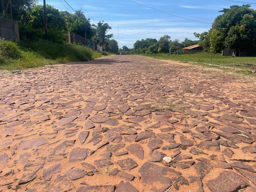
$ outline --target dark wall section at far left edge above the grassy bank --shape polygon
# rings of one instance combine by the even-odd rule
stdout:
[[[20,41],[18,22],[0,18],[0,38],[15,42]]]

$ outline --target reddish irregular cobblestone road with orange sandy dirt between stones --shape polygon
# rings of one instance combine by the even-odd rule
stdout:
[[[256,88],[241,76],[114,55],[0,90],[0,191],[256,190]]]

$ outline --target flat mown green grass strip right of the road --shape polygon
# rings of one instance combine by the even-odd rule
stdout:
[[[240,69],[254,70],[256,71],[256,57],[231,57],[222,56],[217,53],[213,55],[211,62],[211,54],[206,52],[194,53],[194,54],[143,54],[144,56],[154,57],[157,59],[176,60],[182,62],[198,62],[198,63],[210,63],[215,65],[221,65],[226,67],[234,67]]]

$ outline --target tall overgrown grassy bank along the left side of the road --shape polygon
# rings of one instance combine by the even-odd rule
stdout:
[[[22,70],[45,65],[88,61],[100,57],[100,53],[73,44],[48,41],[21,42],[19,46],[0,40],[0,69]]]

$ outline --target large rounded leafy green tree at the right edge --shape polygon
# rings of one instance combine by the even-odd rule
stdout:
[[[211,48],[232,48],[236,50],[237,55],[239,51],[249,52],[255,48],[256,11],[247,4],[230,6],[220,12],[223,14],[217,16],[212,23],[209,35]]]

